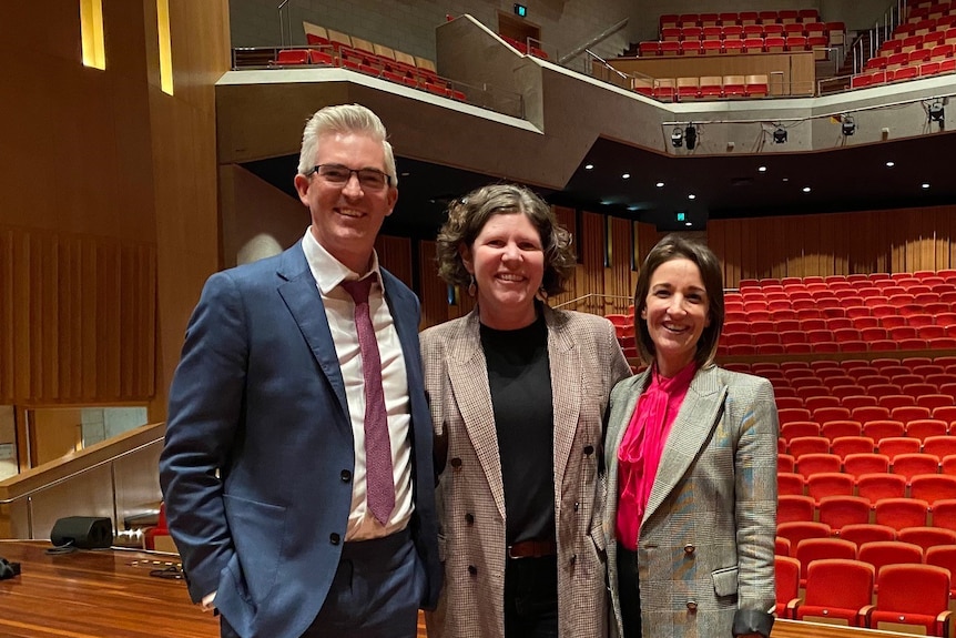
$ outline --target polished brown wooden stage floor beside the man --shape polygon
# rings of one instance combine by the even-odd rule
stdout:
[[[0,540],[0,558],[21,565],[20,576],[0,580],[0,638],[218,638],[218,619],[190,601],[183,580],[151,576],[177,565],[176,557],[123,549],[50,555],[50,547]]]

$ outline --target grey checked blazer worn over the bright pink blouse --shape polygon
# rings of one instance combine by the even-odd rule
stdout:
[[[618,447],[649,377],[645,371],[611,393],[604,455],[611,636],[621,632]],[[643,638],[770,634],[777,429],[770,382],[715,366],[698,371],[664,444],[641,521]]]

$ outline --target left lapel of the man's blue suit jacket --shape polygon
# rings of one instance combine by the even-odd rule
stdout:
[[[345,383],[342,379],[342,369],[338,367],[338,355],[335,353],[328,318],[325,316],[325,305],[322,303],[315,277],[308,270],[301,243],[296,242],[283,253],[277,274],[285,280],[278,286],[278,294],[282,295],[313,356],[325,373],[338,399],[343,416],[348,418]]]

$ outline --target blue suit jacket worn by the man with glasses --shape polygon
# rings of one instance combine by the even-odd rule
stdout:
[[[409,525],[431,608],[441,574],[420,311],[408,287],[382,276],[408,373]],[[186,331],[160,458],[192,599],[217,591],[216,608],[244,637],[301,636],[338,565],[354,466],[345,385],[302,245],[214,274]]]

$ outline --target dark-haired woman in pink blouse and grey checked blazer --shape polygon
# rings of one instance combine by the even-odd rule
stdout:
[[[770,635],[775,601],[777,417],[767,381],[713,364],[718,259],[678,236],[634,293],[650,367],[611,394],[606,437],[611,635]]]

